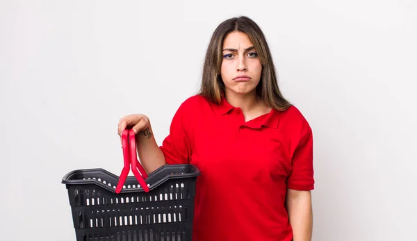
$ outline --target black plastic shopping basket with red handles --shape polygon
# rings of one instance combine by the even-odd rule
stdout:
[[[122,135],[120,176],[81,169],[63,177],[77,241],[192,239],[199,170],[193,165],[164,165],[147,176],[136,158],[134,138],[133,131]],[[127,176],[129,165],[134,176]]]

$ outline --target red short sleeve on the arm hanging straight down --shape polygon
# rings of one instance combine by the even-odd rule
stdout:
[[[293,171],[288,176],[287,187],[293,190],[313,190],[313,133],[306,125],[292,157]]]

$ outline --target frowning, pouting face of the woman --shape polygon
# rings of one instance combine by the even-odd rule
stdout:
[[[247,35],[238,31],[229,33],[223,42],[222,56],[220,74],[226,94],[254,94],[262,65]]]

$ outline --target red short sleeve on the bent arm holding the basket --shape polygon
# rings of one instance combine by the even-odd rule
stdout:
[[[159,147],[165,156],[167,164],[188,164],[190,163],[191,147],[188,140],[186,122],[184,122],[188,111],[184,103],[181,104],[170,125],[170,133],[163,140]]]

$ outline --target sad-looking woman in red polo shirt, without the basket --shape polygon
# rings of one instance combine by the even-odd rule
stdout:
[[[194,240],[311,240],[311,128],[282,97],[268,44],[250,18],[215,29],[201,90],[183,101],[161,147],[145,115],[120,119],[119,135],[128,127],[147,172],[182,163],[202,172]]]

